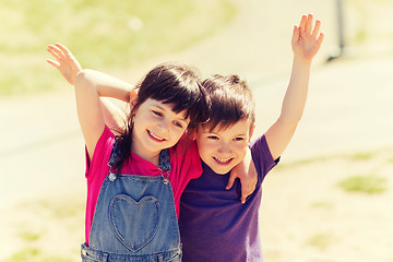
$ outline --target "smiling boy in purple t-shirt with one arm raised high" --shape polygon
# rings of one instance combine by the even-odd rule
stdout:
[[[307,98],[311,60],[323,34],[303,15],[291,39],[294,63],[277,121],[250,145],[258,172],[254,192],[239,203],[240,184],[223,190],[228,172],[240,163],[254,129],[251,93],[236,75],[215,75],[203,82],[210,97],[209,122],[196,131],[203,174],[191,180],[181,196],[179,227],[184,262],[262,261],[259,229],[261,183],[278,163],[301,118]]]

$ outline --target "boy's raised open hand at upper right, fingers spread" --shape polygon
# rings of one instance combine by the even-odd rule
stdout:
[[[317,20],[312,28],[312,14],[302,15],[299,26],[294,27],[291,47],[295,58],[311,62],[321,47],[324,35],[320,33],[321,21]]]

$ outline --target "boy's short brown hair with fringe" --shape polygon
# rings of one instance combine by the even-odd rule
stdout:
[[[255,122],[252,94],[245,80],[236,74],[215,74],[202,82],[209,97],[209,120],[204,126],[210,131],[227,129],[236,122],[249,119]]]

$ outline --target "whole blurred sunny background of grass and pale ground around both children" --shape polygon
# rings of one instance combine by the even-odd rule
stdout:
[[[83,139],[47,45],[122,79],[181,51],[203,73],[245,73],[263,132],[287,86],[293,23],[308,12],[326,37],[296,138],[264,181],[265,261],[392,261],[393,0],[343,0],[346,46],[325,63],[337,55],[336,3],[0,0],[0,261],[80,261]]]

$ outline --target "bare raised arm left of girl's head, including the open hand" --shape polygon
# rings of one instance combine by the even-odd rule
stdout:
[[[105,127],[105,115],[99,97],[114,97],[128,103],[133,86],[94,70],[81,70],[76,59],[60,44],[49,46],[48,51],[57,60],[57,62],[51,60],[48,62],[75,86],[78,117],[88,156],[92,158]]]

